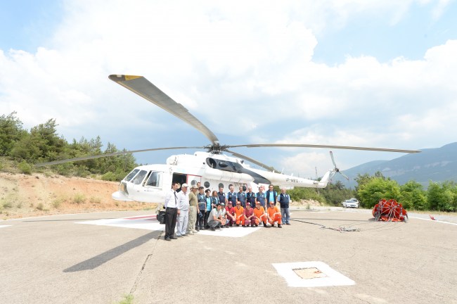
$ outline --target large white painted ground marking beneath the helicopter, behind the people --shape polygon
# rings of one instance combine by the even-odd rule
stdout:
[[[89,220],[77,222],[76,224],[94,224],[98,226],[165,231],[165,225],[157,222],[156,215],[141,215],[138,217],[123,217],[119,219]],[[195,235],[243,237],[257,231],[258,229],[259,227],[230,227],[217,229],[216,231],[200,230],[200,232]]]

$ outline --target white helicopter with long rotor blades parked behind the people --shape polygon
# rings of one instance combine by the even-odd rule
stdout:
[[[335,168],[329,170],[323,175],[320,181],[312,179],[304,179],[293,177],[292,175],[284,175],[274,172],[272,167],[263,163],[228,150],[228,148],[236,147],[307,147],[307,148],[338,148],[351,150],[367,150],[367,151],[390,151],[400,153],[417,153],[416,150],[401,150],[391,148],[366,148],[356,146],[328,146],[328,145],[313,145],[313,144],[243,144],[243,145],[221,145],[219,139],[202,124],[197,118],[188,112],[180,103],[176,103],[167,94],[155,87],[154,84],[146,80],[142,76],[132,75],[110,75],[110,80],[117,84],[126,87],[144,99],[154,103],[160,108],[166,110],[172,115],[184,120],[210,140],[211,144],[207,146],[194,147],[166,147],[166,148],[150,148],[135,151],[123,151],[117,153],[108,153],[100,156],[86,156],[82,158],[72,158],[67,160],[56,160],[49,163],[41,163],[38,166],[55,165],[58,163],[67,163],[77,160],[87,160],[91,158],[100,158],[106,156],[115,156],[126,153],[137,153],[145,151],[158,150],[174,150],[184,148],[206,149],[207,152],[198,151],[193,155],[180,154],[167,158],[167,163],[162,165],[142,165],[134,168],[129,175],[124,177],[120,182],[119,191],[112,194],[112,198],[117,201],[141,201],[146,203],[161,203],[165,199],[166,191],[169,191],[173,182],[180,184],[196,185],[198,182],[205,186],[206,189],[218,190],[219,187],[228,189],[229,184],[233,184],[235,189],[238,186],[250,186],[252,191],[257,192],[259,186],[273,184],[276,186],[285,186],[292,188],[294,186],[325,188],[330,179],[336,172],[340,172],[335,165],[333,153],[330,151],[330,156]],[[223,152],[231,153],[227,156]],[[250,167],[245,163],[248,160],[264,168],[259,170]],[[342,172],[340,172],[342,174]],[[346,177],[344,174],[342,174]],[[347,178],[347,177],[346,177]]]

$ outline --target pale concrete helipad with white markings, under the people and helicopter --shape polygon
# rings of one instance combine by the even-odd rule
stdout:
[[[146,211],[0,222],[0,303],[457,303],[457,225],[292,218],[174,241]]]

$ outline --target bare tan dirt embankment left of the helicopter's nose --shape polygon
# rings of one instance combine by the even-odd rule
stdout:
[[[155,210],[155,204],[113,200],[111,194],[118,185],[81,177],[0,172],[0,219],[102,210]]]

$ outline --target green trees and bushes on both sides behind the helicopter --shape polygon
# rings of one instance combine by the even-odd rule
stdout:
[[[108,153],[126,151],[119,150],[108,142],[105,150],[100,137],[67,142],[57,134],[58,126],[55,119],[49,119],[27,130],[16,113],[0,116],[0,170],[5,170],[4,159],[10,160],[25,174],[51,170],[59,175],[77,177],[95,177],[103,180],[120,181],[134,167],[138,166],[131,153],[119,156],[80,160],[73,163],[63,163],[49,167],[35,167],[34,164],[46,163],[53,160],[65,160],[83,156],[96,156]],[[456,182],[429,182],[427,189],[415,181],[399,185],[396,181],[382,176],[358,175],[355,178],[355,189],[347,189],[341,182],[330,183],[325,189],[300,188],[290,189],[293,201],[313,199],[327,205],[341,205],[345,199],[359,199],[361,207],[373,208],[382,198],[394,199],[413,210],[457,211]],[[278,187],[276,186],[278,191]]]

